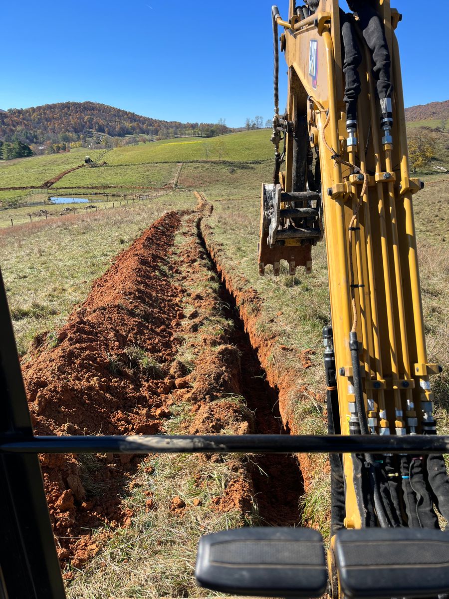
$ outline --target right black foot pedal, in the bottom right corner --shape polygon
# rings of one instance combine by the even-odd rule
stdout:
[[[341,530],[333,552],[347,597],[436,597],[449,591],[449,533],[425,528]]]

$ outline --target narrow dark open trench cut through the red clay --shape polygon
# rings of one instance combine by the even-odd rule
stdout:
[[[253,432],[261,435],[288,435],[290,430],[284,425],[280,414],[278,390],[266,381],[265,370],[245,331],[235,297],[227,291],[226,282],[217,271],[202,237],[199,223],[197,232],[202,249],[210,261],[211,270],[220,280],[219,297],[223,312],[234,324],[230,343],[235,344],[240,354],[241,387],[247,407],[254,413]],[[261,524],[299,525],[299,502],[304,494],[304,481],[296,456],[282,453],[254,455],[250,461],[250,474]]]

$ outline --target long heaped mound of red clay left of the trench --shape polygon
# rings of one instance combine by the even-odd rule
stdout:
[[[96,280],[56,338],[37,338],[23,365],[36,434],[160,432],[169,415],[165,402],[174,380],[168,368],[183,317],[180,289],[163,269],[171,268],[180,223],[178,213],[157,220]],[[139,363],[139,350],[153,366]],[[86,537],[78,539],[90,528],[126,520],[118,494],[136,464],[126,455],[41,456],[62,562],[74,555],[78,567],[98,550]]]

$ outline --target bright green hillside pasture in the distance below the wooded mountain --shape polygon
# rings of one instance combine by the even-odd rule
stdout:
[[[0,162],[0,187],[39,187],[63,171],[83,164],[86,153],[94,160],[104,154],[107,164],[68,173],[52,189],[71,196],[73,188],[77,188],[75,191],[83,192],[81,197],[85,197],[86,187],[93,186],[105,193],[111,193],[111,186],[117,186],[120,193],[125,188],[162,187],[174,182],[179,163],[184,164],[178,187],[193,187],[204,182],[242,186],[247,179],[245,170],[254,170],[258,163],[271,159],[272,147],[268,140],[268,129],[260,129],[216,138],[178,138],[140,143],[105,154],[104,150],[89,153],[86,148],[78,148],[69,153]],[[0,201],[8,205],[14,198],[20,198],[23,205],[30,197],[27,194],[27,190],[0,190]]]

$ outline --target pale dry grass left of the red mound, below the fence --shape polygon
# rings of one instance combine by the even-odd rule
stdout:
[[[179,193],[134,207],[4,229],[0,264],[20,355],[35,335],[65,323],[92,281],[154,220],[192,205],[190,194]]]

